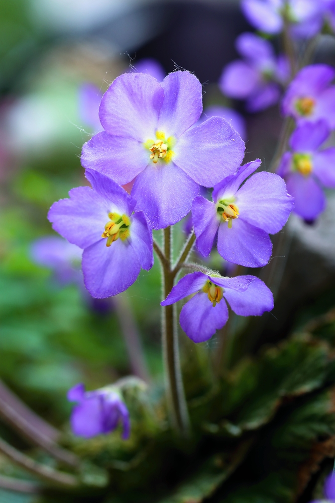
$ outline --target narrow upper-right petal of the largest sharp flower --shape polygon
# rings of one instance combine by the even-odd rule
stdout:
[[[178,137],[191,127],[202,113],[202,87],[189,71],[169,73],[162,82],[164,103],[158,130]]]

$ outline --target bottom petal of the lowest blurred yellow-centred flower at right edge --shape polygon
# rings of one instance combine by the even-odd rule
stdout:
[[[287,191],[294,197],[294,213],[305,220],[315,218],[325,208],[325,197],[322,189],[313,177],[303,177],[300,173],[292,173],[286,181]]]

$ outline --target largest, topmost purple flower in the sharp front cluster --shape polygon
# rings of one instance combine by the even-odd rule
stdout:
[[[202,112],[202,88],[188,71],[163,82],[125,73],[104,94],[104,131],[83,146],[84,167],[120,185],[135,177],[132,196],[155,229],[172,225],[191,209],[199,186],[212,187],[236,172],[244,142],[222,118],[192,129]]]

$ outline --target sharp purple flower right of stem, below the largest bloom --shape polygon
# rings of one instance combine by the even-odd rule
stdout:
[[[208,257],[217,233],[217,251],[224,259],[247,267],[265,266],[272,253],[270,234],[279,232],[293,209],[284,180],[261,172],[241,184],[259,167],[259,159],[241,166],[236,176],[214,187],[213,202],[198,196],[192,203],[196,246]]]

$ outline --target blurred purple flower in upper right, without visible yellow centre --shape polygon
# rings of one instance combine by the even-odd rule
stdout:
[[[245,61],[229,63],[222,71],[219,87],[226,96],[247,100],[250,112],[264,110],[278,102],[281,88],[289,76],[285,56],[276,56],[270,42],[254,33],[243,33],[236,40]]]

